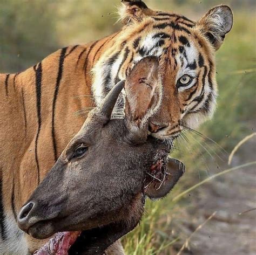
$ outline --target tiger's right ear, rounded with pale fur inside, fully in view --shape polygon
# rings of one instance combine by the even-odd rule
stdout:
[[[232,29],[232,10],[227,5],[215,6],[198,20],[197,26],[215,50],[218,50],[226,33]]]

